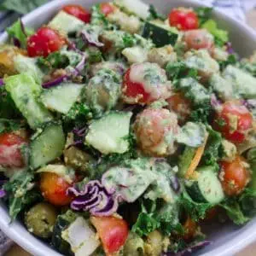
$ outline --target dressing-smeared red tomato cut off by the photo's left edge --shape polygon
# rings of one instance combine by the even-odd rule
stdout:
[[[23,167],[24,159],[20,152],[20,146],[26,143],[26,139],[15,133],[3,133],[0,135],[0,165],[6,167]]]

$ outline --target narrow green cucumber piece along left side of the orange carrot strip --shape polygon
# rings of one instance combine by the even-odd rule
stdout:
[[[178,162],[178,176],[185,177],[186,172],[188,172],[189,166],[195,156],[196,148],[186,147],[183,154],[180,156]]]

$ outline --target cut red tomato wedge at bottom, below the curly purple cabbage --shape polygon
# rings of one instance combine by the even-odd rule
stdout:
[[[107,255],[117,253],[125,244],[129,234],[129,228],[124,219],[115,217],[91,217],[90,221],[96,227]]]

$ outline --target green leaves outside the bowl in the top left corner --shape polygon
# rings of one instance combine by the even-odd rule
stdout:
[[[12,10],[22,15],[26,15],[48,0],[4,0],[0,4],[0,10]]]

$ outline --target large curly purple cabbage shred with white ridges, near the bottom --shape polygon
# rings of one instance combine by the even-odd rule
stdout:
[[[97,180],[85,184],[82,190],[67,189],[67,194],[75,196],[70,205],[73,210],[89,211],[95,216],[111,216],[119,206],[118,199]]]

